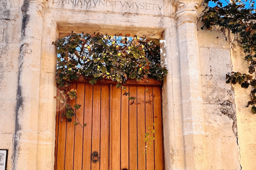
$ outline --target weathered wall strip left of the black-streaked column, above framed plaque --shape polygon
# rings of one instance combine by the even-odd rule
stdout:
[[[20,36],[21,0],[0,1],[0,149],[8,149],[8,167],[12,167]]]

